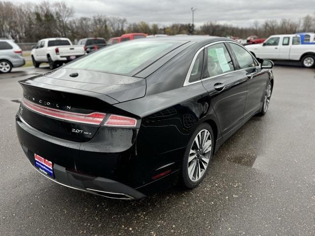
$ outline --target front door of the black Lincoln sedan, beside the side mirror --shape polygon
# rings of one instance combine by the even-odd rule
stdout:
[[[240,76],[247,80],[248,91],[244,117],[252,116],[253,113],[260,109],[268,75],[260,69],[258,62],[244,47],[232,42],[228,44],[237,60]]]

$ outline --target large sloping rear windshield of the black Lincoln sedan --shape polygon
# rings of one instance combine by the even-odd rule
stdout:
[[[86,69],[133,75],[158,58],[183,44],[182,41],[131,40],[106,47],[64,68]]]

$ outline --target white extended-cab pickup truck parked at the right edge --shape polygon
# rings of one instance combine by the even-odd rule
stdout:
[[[304,67],[315,66],[315,44],[301,44],[298,34],[272,35],[263,43],[245,47],[257,59],[295,60]]]

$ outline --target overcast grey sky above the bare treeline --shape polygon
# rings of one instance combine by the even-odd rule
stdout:
[[[10,0],[27,2],[29,0]],[[36,0],[39,2],[41,0]],[[54,2],[57,0],[49,0]],[[126,18],[129,23],[145,21],[160,26],[190,23],[195,7],[195,25],[218,21],[235,26],[252,26],[255,20],[299,19],[315,13],[315,0],[65,0],[75,16],[104,14]]]

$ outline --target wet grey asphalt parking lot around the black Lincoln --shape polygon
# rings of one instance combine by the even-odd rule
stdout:
[[[17,81],[45,71],[0,75],[1,236],[315,235],[315,69],[275,66],[268,113],[220,148],[202,184],[140,201],[82,193],[33,170],[15,133]]]

